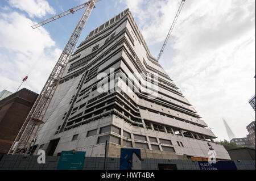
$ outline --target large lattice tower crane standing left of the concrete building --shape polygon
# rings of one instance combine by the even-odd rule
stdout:
[[[82,30],[84,30],[85,24],[94,8],[95,3],[98,1],[101,0],[90,0],[80,6],[62,12],[59,15],[53,16],[52,18],[49,18],[41,23],[32,26],[32,28],[34,29],[38,28],[40,26],[43,26],[44,24],[62,18],[63,16],[66,16],[68,14],[73,14],[74,12],[85,8],[84,13],[79,20],[79,23],[77,24],[70,39],[68,40],[68,43],[65,46],[63,52],[61,53],[57,64],[53,68],[51,75],[49,75],[49,78],[47,79],[47,82],[44,85],[42,92],[38,96],[38,99],[36,99],[36,102],[31,108],[30,113],[28,113],[28,116],[24,121],[24,124],[22,125],[22,128],[20,129],[18,135],[16,136],[8,154],[23,154],[26,156],[30,151],[32,142],[35,142],[40,125],[44,124],[44,115],[47,111],[49,103],[52,100],[52,96],[54,95],[56,88],[59,85],[59,80],[65,70],[65,67],[67,66],[68,60],[76,47],[77,41],[79,40]]]

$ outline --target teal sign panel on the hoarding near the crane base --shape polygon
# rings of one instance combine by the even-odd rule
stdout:
[[[62,151],[57,170],[82,170],[85,151]]]

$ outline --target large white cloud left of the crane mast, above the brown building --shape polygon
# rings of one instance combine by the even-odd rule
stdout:
[[[40,93],[60,56],[49,33],[33,23],[18,12],[0,14],[0,90],[16,91],[28,75],[21,88]]]

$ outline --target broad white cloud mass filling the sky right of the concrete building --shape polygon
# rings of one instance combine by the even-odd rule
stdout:
[[[156,56],[181,1],[120,2]],[[255,115],[255,1],[185,1],[160,64],[218,137],[228,138],[222,117],[245,137]]]

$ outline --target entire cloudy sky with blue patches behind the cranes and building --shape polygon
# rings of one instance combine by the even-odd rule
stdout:
[[[33,30],[36,22],[84,3],[82,0],[0,1],[0,91],[22,86],[40,93],[75,28],[82,10]],[[130,7],[156,57],[180,0],[102,0],[79,43],[93,28]],[[255,1],[187,0],[160,60],[185,97],[212,128],[228,140],[222,117],[237,137],[245,137],[254,110]]]

